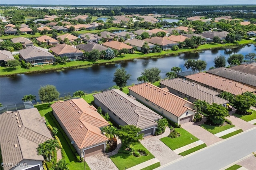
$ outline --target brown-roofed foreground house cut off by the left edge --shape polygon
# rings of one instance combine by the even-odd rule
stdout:
[[[0,146],[4,170],[42,170],[44,157],[38,155],[39,144],[52,139],[46,120],[36,108],[6,111],[0,114]]]

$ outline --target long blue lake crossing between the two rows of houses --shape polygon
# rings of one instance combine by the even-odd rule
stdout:
[[[143,58],[132,61],[121,61],[116,64],[95,65],[89,68],[68,69],[62,72],[46,72],[19,74],[10,77],[0,78],[0,103],[10,105],[22,102],[24,95],[36,95],[40,86],[52,84],[60,92],[60,96],[71,95],[77,90],[84,90],[91,93],[94,90],[105,90],[115,83],[113,75],[116,68],[124,67],[127,73],[132,76],[127,85],[138,83],[136,80],[145,68],[158,67],[161,70],[161,77],[166,78],[166,72],[174,66],[186,71],[183,64],[187,59],[201,59],[207,62],[207,70],[214,66],[214,57],[224,55],[226,59],[229,55],[239,53],[246,55],[255,53],[254,45],[236,47],[234,49],[212,49],[196,53],[182,53],[179,55],[170,55],[164,58]]]

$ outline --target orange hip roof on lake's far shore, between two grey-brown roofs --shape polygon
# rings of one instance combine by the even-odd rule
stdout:
[[[71,47],[70,45],[67,45],[67,44],[58,44],[55,47],[51,47],[50,50],[52,50],[52,52],[56,53],[57,55],[62,55],[65,53],[82,53],[83,54],[81,50]]]

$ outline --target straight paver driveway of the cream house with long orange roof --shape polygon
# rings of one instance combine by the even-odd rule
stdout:
[[[223,139],[216,137],[212,133],[206,131],[204,128],[198,126],[193,122],[182,124],[181,127],[203,141],[207,146],[222,141]]]

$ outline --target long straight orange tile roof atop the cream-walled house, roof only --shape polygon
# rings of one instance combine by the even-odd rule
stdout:
[[[193,110],[188,106],[192,106],[191,102],[184,100],[170,92],[166,92],[161,88],[154,86],[150,83],[141,83],[135,86],[129,87],[129,90],[135,92],[136,94],[148,99],[157,106],[162,107],[166,111],[172,113],[173,115],[180,117],[188,109]]]

